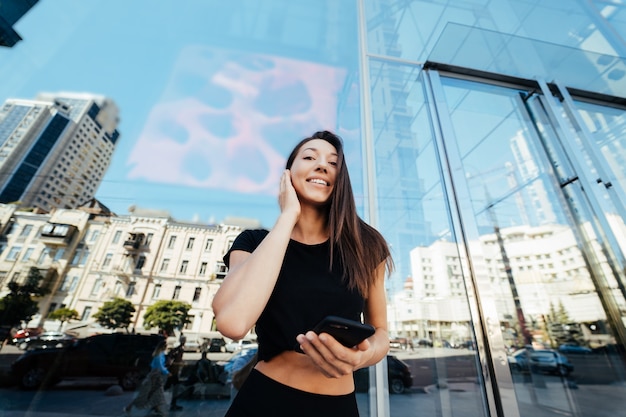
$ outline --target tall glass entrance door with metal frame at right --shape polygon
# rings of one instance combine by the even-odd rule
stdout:
[[[626,157],[611,136],[626,112],[542,82],[427,77],[497,413],[622,413],[624,176],[606,161]]]

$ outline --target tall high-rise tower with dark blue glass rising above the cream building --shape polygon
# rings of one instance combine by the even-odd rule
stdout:
[[[119,138],[118,109],[91,94],[42,93],[0,108],[0,202],[75,208],[91,200]]]

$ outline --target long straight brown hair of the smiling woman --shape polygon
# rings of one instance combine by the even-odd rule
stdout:
[[[333,256],[337,253],[343,264],[348,287],[357,288],[361,295],[367,297],[369,287],[376,277],[374,270],[378,265],[385,261],[387,272],[393,270],[389,247],[383,236],[357,214],[350,175],[344,159],[343,141],[339,136],[324,130],[302,139],[287,158],[286,168],[291,169],[302,145],[313,139],[325,140],[337,150],[337,178],[329,204],[326,205],[330,234],[329,268],[332,267]]]

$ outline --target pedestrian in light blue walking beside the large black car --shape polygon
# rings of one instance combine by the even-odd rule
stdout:
[[[165,416],[165,379],[169,375],[169,371],[165,367],[165,348],[167,343],[162,340],[152,353],[152,362],[150,362],[150,372],[139,386],[137,396],[124,407],[124,413],[130,415],[133,407],[150,408],[158,415]]]

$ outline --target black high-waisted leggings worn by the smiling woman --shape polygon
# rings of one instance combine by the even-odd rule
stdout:
[[[359,417],[354,393],[313,394],[253,369],[225,417]]]

